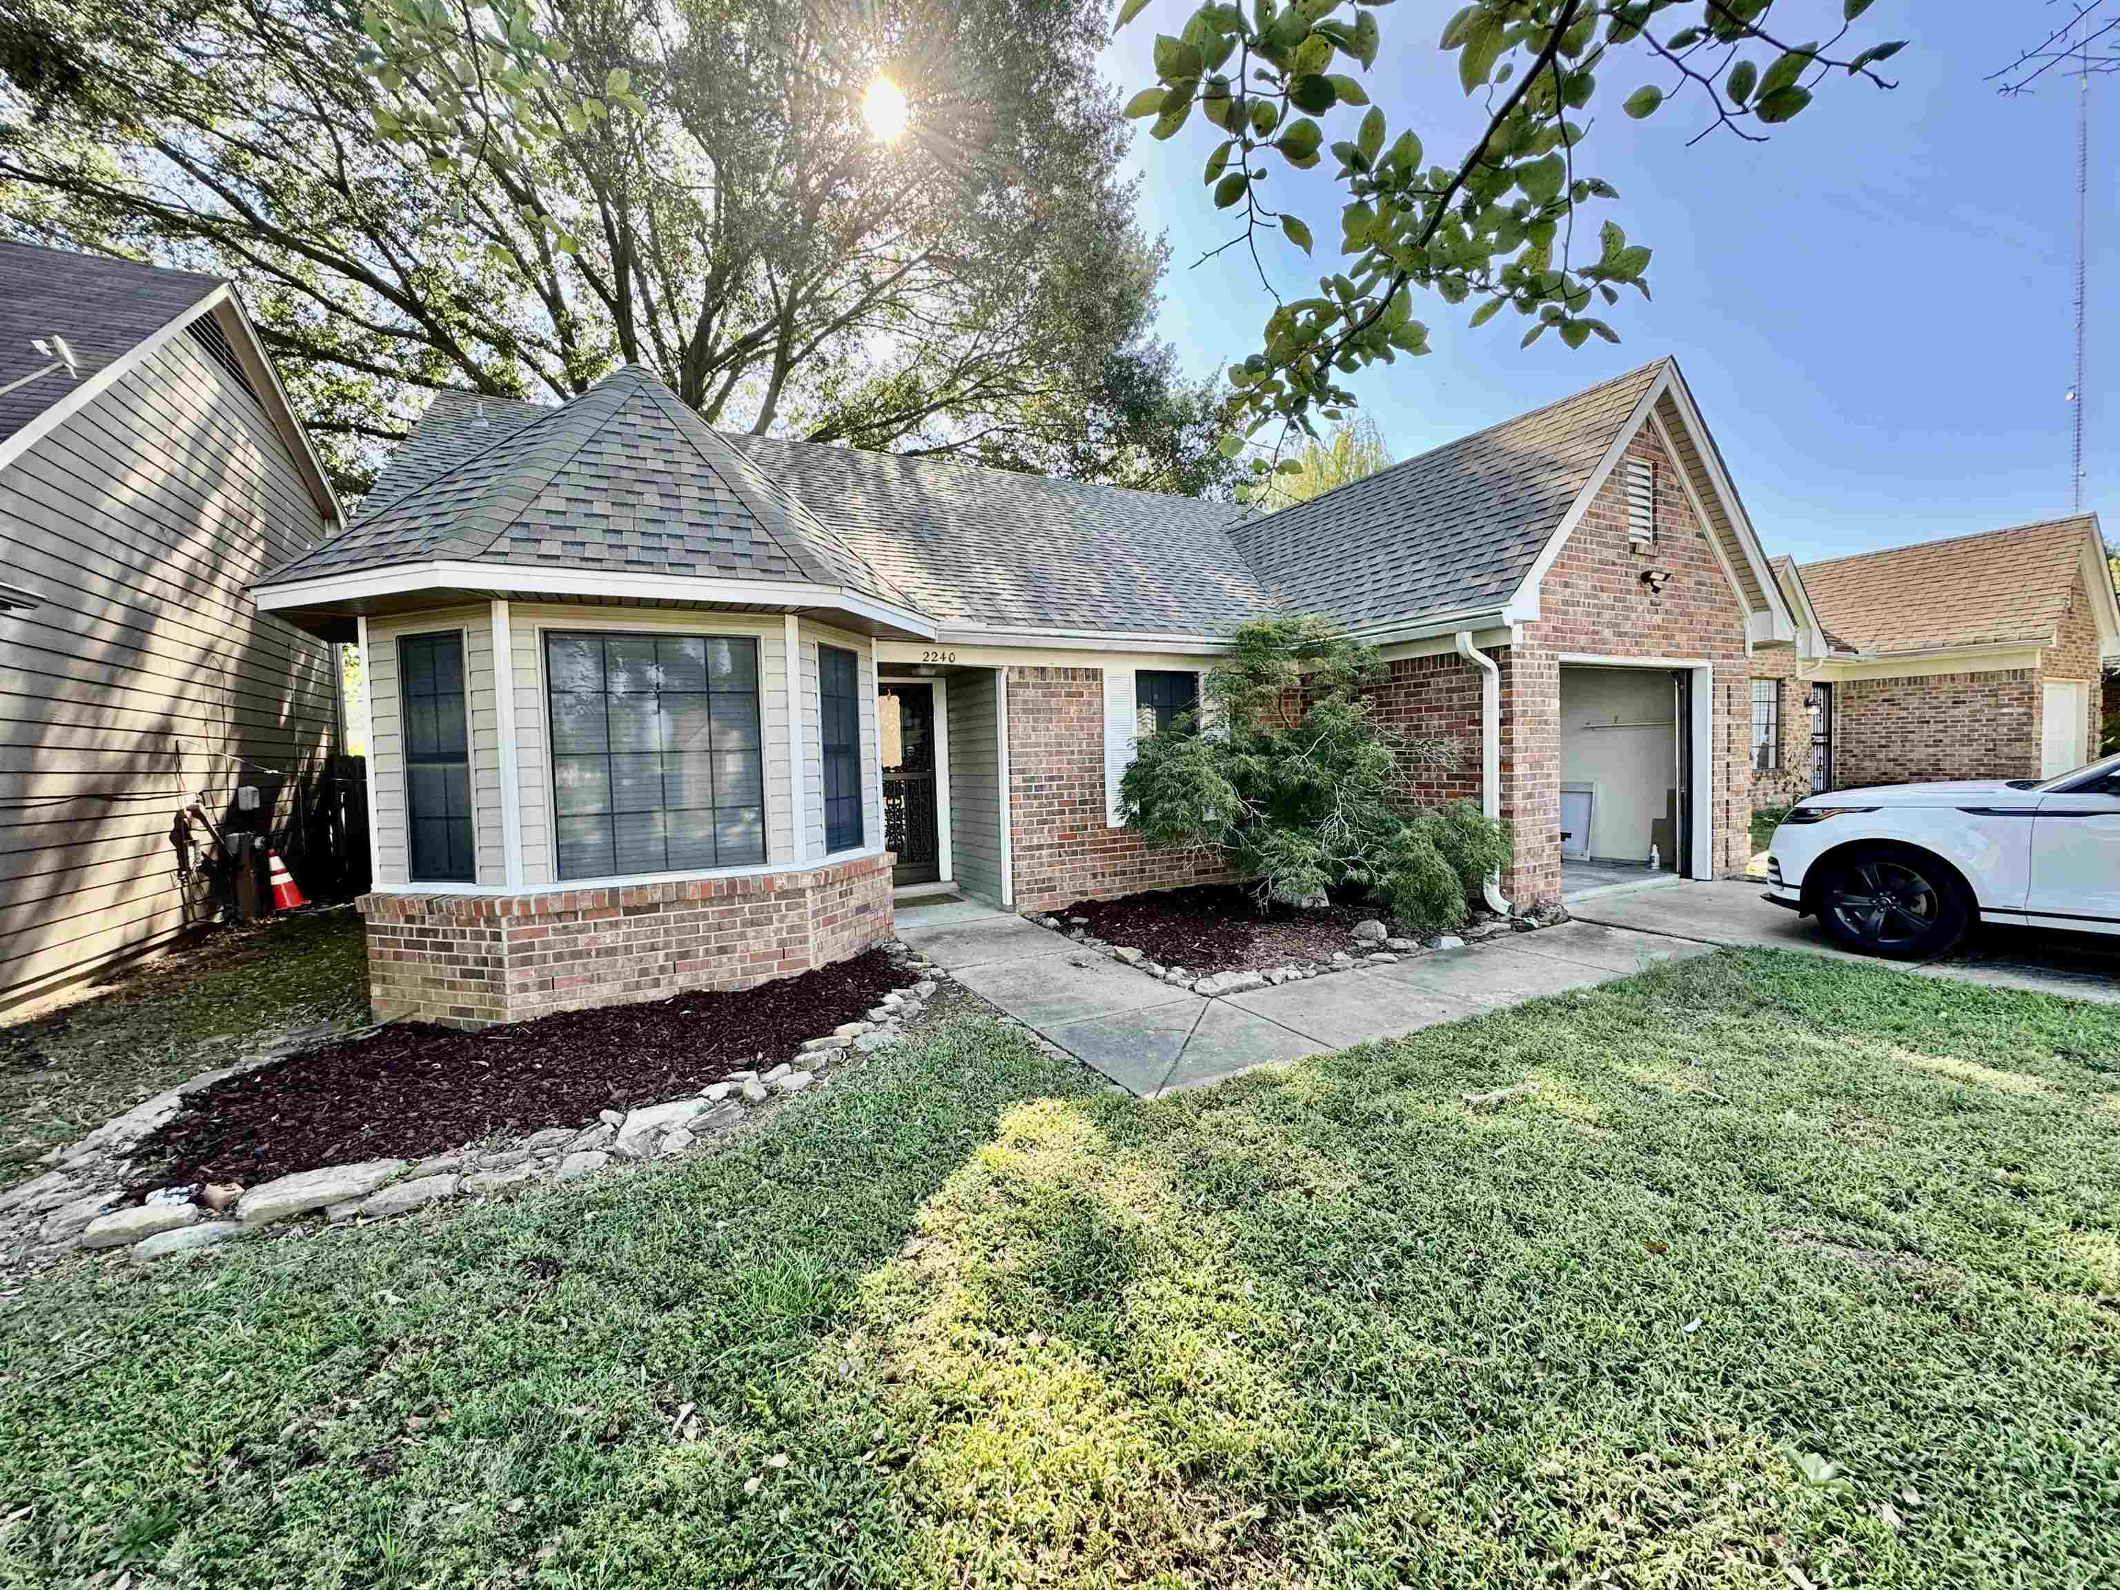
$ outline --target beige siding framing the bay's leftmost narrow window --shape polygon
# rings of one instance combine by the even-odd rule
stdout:
[[[477,848],[477,882],[500,886],[509,880],[509,859],[500,825],[500,712],[494,697],[492,608],[449,608],[369,623],[369,712],[375,740],[377,884],[411,882],[405,848],[405,738],[399,721],[399,640],[413,634],[458,630],[464,636],[464,697],[471,706],[471,810]]]

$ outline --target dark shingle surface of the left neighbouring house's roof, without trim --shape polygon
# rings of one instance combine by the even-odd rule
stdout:
[[[51,363],[30,346],[32,337],[66,337],[81,365],[72,379],[61,369],[0,394],[0,441],[220,284],[218,276],[0,242],[0,386]]]

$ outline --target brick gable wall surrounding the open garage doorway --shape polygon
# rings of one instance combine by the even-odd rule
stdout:
[[[1647,426],[1628,454],[1658,471],[1656,545],[1626,534],[1626,469],[1615,469],[1539,583],[1539,621],[1497,653],[1501,678],[1501,810],[1516,831],[1503,893],[1518,905],[1560,895],[1560,655],[1677,657],[1713,664],[1709,757],[1711,865],[1741,873],[1751,850],[1751,661],[1747,613],[1696,522],[1675,464]],[[1641,575],[1671,572],[1662,591]]]

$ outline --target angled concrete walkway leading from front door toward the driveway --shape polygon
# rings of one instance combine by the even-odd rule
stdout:
[[[1569,922],[1200,999],[984,905],[901,909],[899,937],[1141,1098],[1709,954],[1707,943]]]

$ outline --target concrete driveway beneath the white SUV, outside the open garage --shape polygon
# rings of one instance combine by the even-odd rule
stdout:
[[[1592,895],[1569,901],[1577,922],[1626,933],[1656,933],[1688,943],[1766,946],[1804,954],[1866,960],[1872,967],[1902,967],[1923,977],[2029,988],[2120,1005],[2120,939],[2088,933],[2037,933],[2031,929],[1980,929],[1944,960],[1904,962],[1851,956],[1825,937],[1808,916],[1760,899],[1757,882],[1675,884],[1635,895]],[[1539,935],[1533,935],[1539,937]]]

